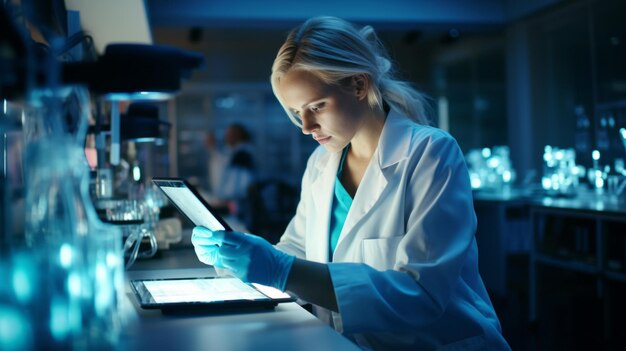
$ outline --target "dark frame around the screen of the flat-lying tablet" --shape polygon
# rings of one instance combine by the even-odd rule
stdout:
[[[250,288],[265,296],[265,299],[258,300],[217,300],[217,301],[185,301],[185,302],[156,302],[150,291],[143,282],[147,281],[187,281],[187,280],[205,280],[205,279],[236,279],[233,277],[187,277],[187,278],[163,278],[163,279],[133,279],[130,281],[131,290],[133,291],[137,302],[144,309],[161,309],[161,310],[224,310],[232,308],[273,308],[278,303],[294,302],[296,298],[289,295],[285,298],[272,298],[257,289],[254,285],[245,283]]]

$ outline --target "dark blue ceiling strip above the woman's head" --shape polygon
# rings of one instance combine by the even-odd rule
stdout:
[[[481,28],[557,0],[146,0],[153,26],[288,28],[318,15],[342,17],[379,28],[442,26]]]

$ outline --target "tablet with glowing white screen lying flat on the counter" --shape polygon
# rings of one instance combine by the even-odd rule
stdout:
[[[234,277],[137,279],[130,285],[142,308],[166,312],[273,308],[296,301],[278,289]]]

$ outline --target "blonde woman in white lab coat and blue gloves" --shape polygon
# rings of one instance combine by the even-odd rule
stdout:
[[[272,87],[321,145],[296,214],[275,247],[196,227],[196,253],[311,302],[365,349],[508,350],[478,273],[463,154],[391,68],[369,26],[318,17],[292,30]]]

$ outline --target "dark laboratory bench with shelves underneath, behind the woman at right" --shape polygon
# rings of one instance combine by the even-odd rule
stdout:
[[[523,286],[527,278],[528,290],[521,291],[528,298],[533,329],[582,323],[585,328],[595,326],[589,333],[598,333],[607,345],[623,340],[626,194],[589,189],[575,196],[478,191],[474,206],[479,269],[493,296],[505,299],[508,289]],[[507,277],[508,264],[524,262],[519,260],[522,255],[528,262],[527,277]],[[568,301],[584,301],[585,307],[573,308]],[[560,316],[570,311],[568,323],[573,324],[564,324]]]

